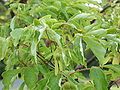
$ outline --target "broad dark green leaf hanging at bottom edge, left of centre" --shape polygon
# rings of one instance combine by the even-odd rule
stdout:
[[[33,89],[38,81],[38,70],[36,67],[27,67],[24,69],[24,82],[29,89]]]

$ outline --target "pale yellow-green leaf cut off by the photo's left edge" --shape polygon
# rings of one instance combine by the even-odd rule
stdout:
[[[0,60],[6,56],[8,45],[8,39],[0,37]]]

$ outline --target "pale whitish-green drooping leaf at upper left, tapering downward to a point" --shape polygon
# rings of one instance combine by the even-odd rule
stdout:
[[[12,36],[12,38],[14,40],[14,46],[18,45],[22,34],[23,34],[23,29],[22,28],[17,28],[10,33],[10,35]]]

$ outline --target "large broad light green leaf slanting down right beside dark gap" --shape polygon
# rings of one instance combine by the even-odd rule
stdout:
[[[84,41],[88,47],[93,51],[94,55],[98,58],[100,64],[104,64],[104,56],[106,53],[105,48],[96,41],[96,38],[93,37],[84,37]]]

